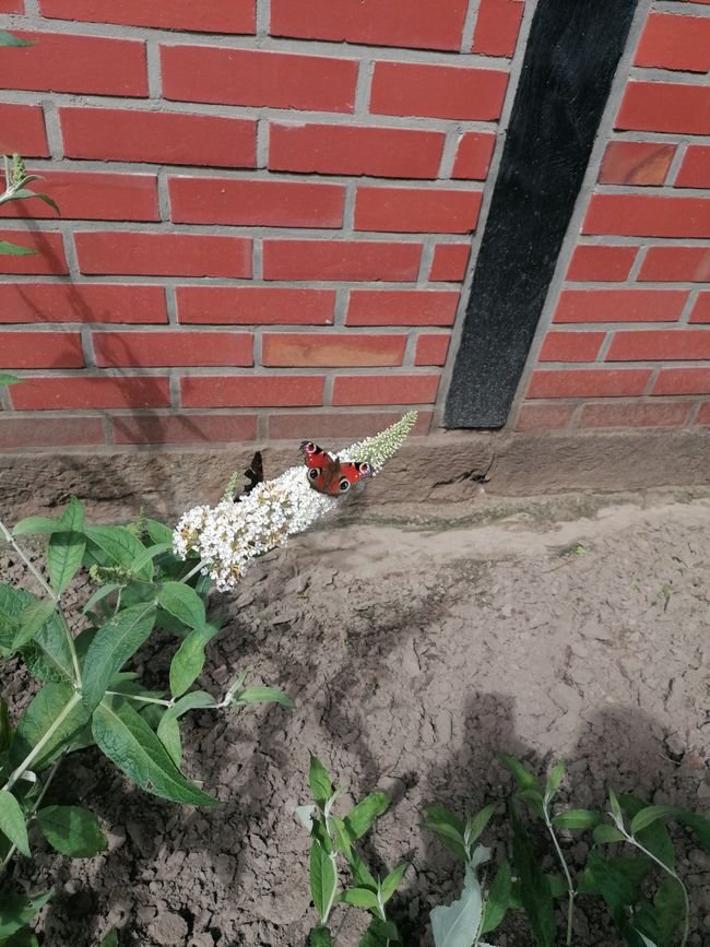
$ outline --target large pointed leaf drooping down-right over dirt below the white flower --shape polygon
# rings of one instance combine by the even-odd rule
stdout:
[[[121,698],[99,703],[92,731],[98,748],[141,789],[176,803],[216,805],[182,776],[143,718]]]

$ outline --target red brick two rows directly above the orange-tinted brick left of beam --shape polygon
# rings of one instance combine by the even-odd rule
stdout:
[[[421,244],[372,240],[264,240],[264,280],[416,280]]]

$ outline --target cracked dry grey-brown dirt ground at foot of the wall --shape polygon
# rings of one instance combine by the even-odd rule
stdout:
[[[608,781],[708,812],[710,494],[482,498],[468,521],[406,528],[369,517],[331,519],[215,596],[229,620],[201,686],[218,693],[249,664],[296,703],[191,718],[187,769],[220,807],[149,797],[95,751],[64,766],[59,797],[81,788],[110,851],[16,864],[23,886],[55,877],[45,944],[93,947],[115,924],[122,945],[301,947],[315,918],[293,813],[309,750],[354,795],[392,794],[365,852],[379,869],[413,863],[394,902],[406,945],[430,944],[428,910],[461,880],[419,828],[422,804],[501,798],[496,750],[537,767],[564,756],[563,798],[571,789],[577,806],[601,805]],[[166,679],[165,643],[141,655],[149,680]],[[504,839],[498,819],[484,840],[500,852]],[[583,839],[566,843],[578,864]],[[710,859],[683,848],[691,943],[708,944]],[[336,909],[333,928],[354,947],[357,912]],[[510,916],[494,943],[530,942]],[[618,944],[584,898],[575,944]]]

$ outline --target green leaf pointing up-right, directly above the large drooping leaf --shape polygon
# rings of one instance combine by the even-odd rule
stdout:
[[[152,603],[125,608],[96,632],[84,659],[82,697],[88,710],[100,703],[108,684],[151,636]]]

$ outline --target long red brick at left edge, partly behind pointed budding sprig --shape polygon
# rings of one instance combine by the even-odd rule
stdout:
[[[155,175],[114,175],[93,171],[35,171],[36,187],[59,205],[64,220],[159,221]],[[13,201],[0,209],[3,217],[57,217],[44,201]]]

